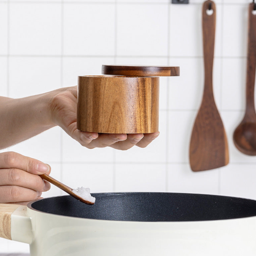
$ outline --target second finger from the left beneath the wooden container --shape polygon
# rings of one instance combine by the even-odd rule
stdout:
[[[98,138],[92,140],[90,144],[81,143],[81,145],[87,148],[104,148],[126,139],[127,134],[99,133]]]

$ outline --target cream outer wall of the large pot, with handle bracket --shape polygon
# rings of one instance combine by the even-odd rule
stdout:
[[[31,256],[256,255],[256,217],[194,222],[128,222],[66,217],[20,206],[12,240]]]

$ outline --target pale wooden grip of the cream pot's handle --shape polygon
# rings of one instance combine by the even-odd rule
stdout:
[[[19,207],[18,204],[0,204],[0,237],[11,237],[11,214]]]

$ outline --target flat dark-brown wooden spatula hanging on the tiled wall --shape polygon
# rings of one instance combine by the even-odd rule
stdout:
[[[209,15],[207,9],[212,9]],[[203,3],[204,93],[192,130],[189,159],[192,171],[210,170],[228,164],[226,132],[213,95],[212,71],[214,57],[216,7],[211,0]]]

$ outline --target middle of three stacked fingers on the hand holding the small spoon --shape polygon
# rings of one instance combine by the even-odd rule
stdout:
[[[30,188],[35,191],[48,191],[51,188],[49,182],[41,177],[16,168],[0,170],[0,186],[16,185]]]

